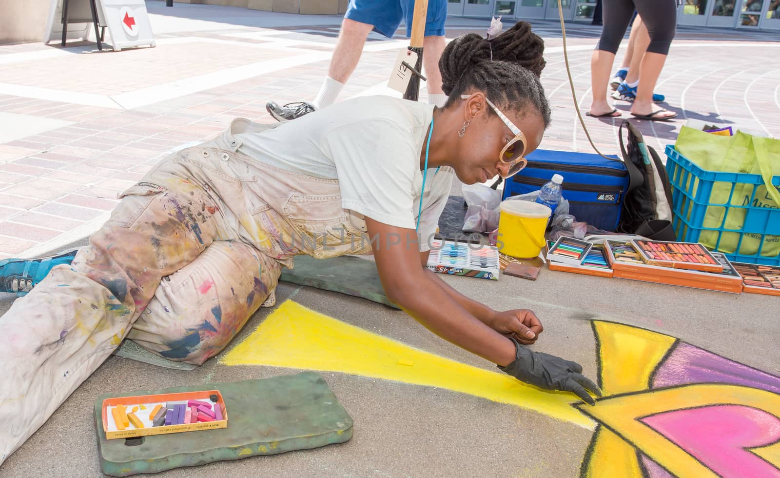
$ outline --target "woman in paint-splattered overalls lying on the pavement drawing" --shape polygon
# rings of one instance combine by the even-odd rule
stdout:
[[[216,355],[296,254],[373,253],[388,298],[434,334],[593,403],[579,365],[521,345],[541,333],[534,312],[496,312],[425,268],[452,180],[510,177],[541,142],[543,50],[528,23],[463,35],[441,57],[443,109],[365,97],[273,127],[239,119],[160,162],[0,319],[0,463],[124,337],[186,362]]]

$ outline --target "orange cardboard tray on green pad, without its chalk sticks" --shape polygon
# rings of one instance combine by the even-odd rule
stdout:
[[[200,400],[204,401],[204,397],[210,397],[211,395],[217,396],[217,402],[215,407],[219,407],[222,412],[222,419],[215,419],[211,422],[197,422],[197,423],[181,423],[179,425],[162,425],[162,426],[150,426],[150,420],[147,420],[149,414],[154,410],[154,407],[158,404],[162,404],[165,408],[165,403],[169,401],[190,401]],[[136,415],[144,422],[143,428],[137,428],[131,423],[124,430],[118,430],[115,426],[114,419],[110,409],[117,405],[125,405],[130,408],[136,405],[144,405],[146,409],[138,410]],[[138,395],[133,397],[118,397],[118,398],[106,398],[102,405],[102,421],[103,431],[105,437],[108,440],[114,438],[130,438],[130,437],[144,437],[148,435],[162,435],[165,433],[180,433],[187,431],[197,430],[211,430],[215,428],[226,428],[228,426],[228,410],[225,408],[225,401],[222,400],[222,394],[218,390],[209,391],[197,391],[197,392],[183,392],[177,394],[156,394],[156,395]]]

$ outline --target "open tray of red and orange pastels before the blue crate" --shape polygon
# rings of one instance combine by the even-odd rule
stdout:
[[[672,269],[723,272],[723,266],[715,260],[704,245],[697,242],[631,241],[644,262],[651,266]]]

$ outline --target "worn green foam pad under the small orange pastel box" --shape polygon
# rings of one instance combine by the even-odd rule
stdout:
[[[207,390],[222,394],[227,428],[106,440],[101,417],[106,398]],[[352,417],[324,378],[314,372],[105,394],[95,401],[94,419],[101,469],[110,476],[159,473],[182,466],[317,448],[349,441],[353,433]],[[136,442],[140,443],[130,445]]]

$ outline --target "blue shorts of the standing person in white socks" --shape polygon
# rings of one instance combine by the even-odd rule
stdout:
[[[344,18],[374,25],[374,31],[392,37],[406,19],[406,36],[412,35],[414,0],[349,0]],[[428,0],[426,37],[443,37],[447,0]]]

